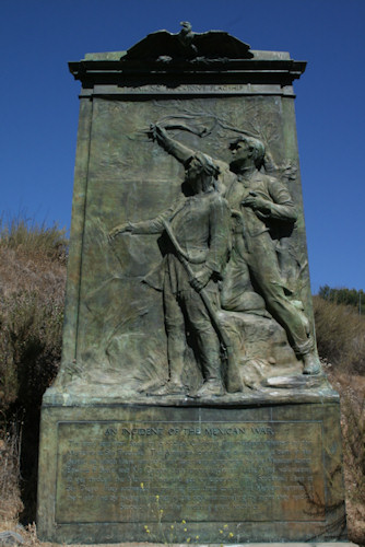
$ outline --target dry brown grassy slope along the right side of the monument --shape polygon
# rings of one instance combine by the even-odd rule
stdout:
[[[318,350],[341,397],[349,538],[365,545],[365,317],[319,296],[314,307]]]

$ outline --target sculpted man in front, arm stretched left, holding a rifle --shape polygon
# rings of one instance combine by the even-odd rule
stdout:
[[[216,282],[227,260],[231,213],[227,201],[214,187],[219,168],[212,160],[198,152],[186,166],[186,182],[191,196],[181,196],[153,220],[121,224],[109,235],[115,237],[126,232],[158,234],[168,223],[168,231],[179,248],[172,246],[157,271],[145,278],[145,282],[163,291],[167,335],[169,379],[155,394],[186,393],[182,372],[186,329],[189,327],[195,336],[204,380],[197,395],[223,395],[220,340],[200,291],[204,289],[211,302],[217,303]],[[192,271],[191,278],[184,260]]]

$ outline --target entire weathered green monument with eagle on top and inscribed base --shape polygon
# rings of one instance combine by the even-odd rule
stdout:
[[[70,62],[82,91],[39,537],[343,540],[295,129],[306,63],[181,25]]]

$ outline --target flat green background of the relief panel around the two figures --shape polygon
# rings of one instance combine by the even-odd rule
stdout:
[[[126,235],[111,244],[107,237],[117,224],[156,217],[181,193],[184,167],[143,133],[151,123],[167,116],[196,113],[228,127],[256,125],[257,131],[267,133],[275,163],[293,172],[287,185],[299,216],[292,236],[281,241],[281,254],[286,252],[286,281],[311,317],[308,271],[299,270],[306,264],[306,242],[292,103],[272,96],[94,98],[92,104],[82,100],[64,368],[72,370],[75,360],[74,369],[82,371],[86,383],[118,385],[126,393],[138,389],[141,379],[153,380],[167,371],[162,296],[141,282],[161,261],[161,237]],[[178,137],[186,146],[228,162],[229,138],[235,133],[217,124],[205,138],[184,131]],[[287,360],[284,373],[293,366],[299,371],[293,353],[283,357]],[[193,356],[187,356],[189,377],[193,376],[191,361]]]

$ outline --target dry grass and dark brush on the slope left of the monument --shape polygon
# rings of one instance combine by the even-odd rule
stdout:
[[[0,446],[8,472],[16,475],[7,480],[17,484],[21,469],[26,519],[31,520],[35,512],[42,396],[61,357],[66,259],[66,232],[56,224],[46,228],[23,219],[1,222]],[[24,416],[21,443],[20,416]],[[19,446],[16,454],[14,446]],[[10,466],[15,459],[20,467]]]

